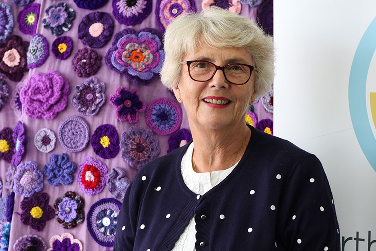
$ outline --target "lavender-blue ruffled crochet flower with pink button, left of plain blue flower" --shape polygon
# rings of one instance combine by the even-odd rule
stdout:
[[[43,173],[33,161],[18,165],[13,180],[14,192],[24,197],[30,197],[43,189]]]

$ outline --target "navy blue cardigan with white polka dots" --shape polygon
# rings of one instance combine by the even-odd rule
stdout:
[[[238,165],[203,196],[186,187],[180,172],[188,144],[146,164],[124,197],[114,251],[171,250],[194,213],[197,251],[340,251],[320,161],[250,128]]]

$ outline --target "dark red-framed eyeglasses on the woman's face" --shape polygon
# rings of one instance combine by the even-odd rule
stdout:
[[[180,62],[180,64],[188,65],[188,73],[194,81],[205,82],[212,79],[217,70],[222,70],[224,78],[235,85],[246,84],[255,67],[249,64],[227,64],[224,66],[217,66],[212,62],[202,60],[191,60]]]

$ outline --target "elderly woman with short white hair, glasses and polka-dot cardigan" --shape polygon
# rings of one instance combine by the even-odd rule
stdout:
[[[273,81],[272,39],[211,8],[174,20],[165,53],[162,83],[184,105],[193,142],[136,175],[114,251],[339,251],[320,161],[244,120]]]

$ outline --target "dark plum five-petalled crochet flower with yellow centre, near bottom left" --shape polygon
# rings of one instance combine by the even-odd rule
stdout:
[[[35,230],[42,231],[46,221],[52,219],[55,214],[55,210],[48,203],[47,193],[37,193],[33,197],[24,198],[20,205],[21,222],[30,225]]]

